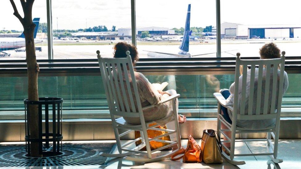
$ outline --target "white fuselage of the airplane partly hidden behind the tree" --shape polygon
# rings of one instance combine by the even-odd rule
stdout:
[[[35,44],[41,42],[43,42],[43,40],[35,39]],[[22,47],[25,47],[25,38],[0,38],[0,51],[14,50]]]

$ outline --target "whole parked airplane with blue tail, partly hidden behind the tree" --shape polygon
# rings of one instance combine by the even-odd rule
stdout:
[[[40,18],[34,18],[32,21],[36,25],[35,32],[34,32],[35,44],[43,42],[41,39],[36,39]],[[3,51],[19,49],[22,47],[25,47],[24,32],[18,37],[7,37],[7,38],[2,37],[2,38],[0,38],[0,53],[3,53],[4,56],[10,56],[10,54],[3,52]]]

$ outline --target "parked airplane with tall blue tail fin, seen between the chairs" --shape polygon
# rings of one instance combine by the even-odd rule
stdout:
[[[190,58],[195,56],[201,56],[201,55],[207,55],[207,54],[214,54],[213,53],[205,53],[205,54],[196,54],[192,55],[189,53],[189,39],[191,36],[192,31],[190,31],[190,8],[191,4],[188,4],[188,10],[186,15],[186,22],[185,22],[185,28],[184,28],[184,36],[183,38],[180,38],[182,40],[181,45],[179,46],[179,53],[178,54],[171,54],[171,53],[164,53],[164,52],[155,52],[155,51],[147,51],[147,57],[148,58]],[[216,36],[210,36],[209,39],[214,39]],[[230,50],[229,50],[230,51]],[[227,51],[224,51],[227,52]]]

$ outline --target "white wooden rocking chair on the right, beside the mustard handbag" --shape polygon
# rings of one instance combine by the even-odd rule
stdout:
[[[274,163],[281,163],[282,159],[277,159],[278,152],[278,138],[279,138],[279,124],[280,124],[280,112],[281,112],[281,102],[282,102],[282,87],[283,87],[283,74],[284,74],[284,61],[285,61],[285,52],[282,51],[281,58],[276,59],[252,59],[252,60],[241,60],[239,58],[240,53],[237,53],[236,56],[236,66],[235,66],[235,91],[234,91],[234,102],[233,107],[228,106],[225,103],[225,98],[221,95],[221,93],[214,93],[214,97],[217,99],[217,131],[221,135],[224,135],[224,138],[228,140],[222,141],[222,146],[230,153],[226,155],[225,152],[222,152],[225,160],[234,165],[242,165],[245,164],[245,161],[235,161],[233,160],[234,156],[253,156],[253,155],[269,155]],[[238,86],[239,86],[239,76],[240,76],[240,66],[243,67],[242,72],[242,92],[241,92],[241,106],[240,111],[238,110]],[[247,78],[247,66],[251,66],[251,74],[250,74],[250,92],[249,98],[246,98],[246,78]],[[258,65],[258,85],[257,85],[257,99],[256,103],[253,103],[254,98],[254,77],[255,77],[255,66]],[[262,78],[262,70],[263,66],[266,65],[266,76]],[[277,76],[278,76],[278,65],[280,65],[280,78],[279,78],[279,87],[278,91],[276,90],[277,86]],[[272,74],[273,73],[273,74]],[[270,79],[271,75],[273,75],[272,81],[272,89],[270,90]],[[265,85],[263,84],[263,79],[265,79]],[[263,107],[261,107],[261,96],[262,91],[264,92],[264,103]],[[276,92],[278,92],[278,97],[276,98]],[[269,98],[269,95],[272,97]],[[246,99],[249,100],[248,104],[248,112],[245,113]],[[269,100],[271,100],[271,108],[268,112],[268,104]],[[276,103],[277,102],[277,103]],[[253,104],[256,104],[256,109],[253,110]],[[277,104],[277,109],[275,109],[275,104]],[[223,116],[221,115],[221,106],[224,106],[230,109],[233,112],[232,124],[228,123]],[[243,113],[238,113],[243,112]],[[266,128],[264,130],[250,131],[244,128],[236,126],[237,120],[259,120],[259,119],[274,119],[276,118],[276,125],[273,128]],[[221,129],[221,123],[224,123],[228,129]],[[231,131],[231,139],[225,134],[225,131]],[[263,133],[267,132],[266,139],[244,139],[239,140],[239,142],[245,141],[266,141],[267,142],[267,153],[254,153],[254,154],[234,154],[235,149],[235,134],[241,133]],[[274,145],[271,141],[271,136],[274,138]],[[224,143],[231,144],[230,150],[224,145]]]

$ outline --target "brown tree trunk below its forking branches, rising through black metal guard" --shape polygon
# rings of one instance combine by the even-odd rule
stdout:
[[[24,26],[25,48],[26,48],[26,62],[27,62],[27,77],[28,77],[28,100],[39,101],[38,94],[38,72],[39,66],[37,64],[35,55],[35,40],[34,40],[35,24],[31,22],[28,26]],[[38,138],[38,106],[29,106],[29,130],[31,138]],[[41,157],[39,155],[39,143],[31,143],[30,155],[32,157]]]

